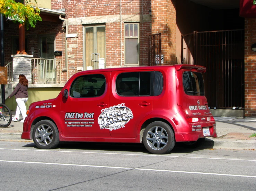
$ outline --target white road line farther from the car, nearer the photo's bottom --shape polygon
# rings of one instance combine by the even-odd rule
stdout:
[[[145,170],[145,171],[147,170],[147,171],[159,171],[159,172],[176,172],[176,173],[208,174],[208,175],[221,175],[221,176],[231,176],[231,177],[256,178],[256,176],[238,175],[238,174],[218,174],[218,173],[189,172],[189,171],[176,171],[176,170],[139,169],[139,168],[129,168],[129,167],[107,167],[107,166],[83,165],[83,164],[62,164],[62,163],[6,161],[6,160],[0,160],[0,162],[15,162],[15,163],[29,163],[29,164],[51,164],[51,165],[66,165],[66,166],[79,166],[79,167],[97,167],[97,168],[112,168],[112,169],[127,169],[127,170]]]

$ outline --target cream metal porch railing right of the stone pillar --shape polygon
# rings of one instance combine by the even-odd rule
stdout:
[[[61,78],[61,60],[32,58],[32,83],[65,83]]]

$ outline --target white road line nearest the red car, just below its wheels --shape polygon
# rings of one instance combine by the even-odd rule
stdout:
[[[107,153],[107,152],[87,152],[87,151],[56,151],[56,150],[36,150],[36,149],[6,149],[0,148],[0,150],[20,150],[20,151],[38,151],[38,152],[67,152],[67,153],[89,153],[89,154],[116,154],[116,155],[133,155],[133,156],[150,156],[150,157],[171,157],[171,158],[194,158],[194,159],[215,159],[215,160],[236,160],[236,161],[253,161],[249,159],[228,159],[228,158],[213,158],[213,157],[185,157],[175,155],[159,155],[159,154],[127,154],[127,153]]]

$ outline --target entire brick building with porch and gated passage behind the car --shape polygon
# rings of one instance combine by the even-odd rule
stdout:
[[[240,11],[246,1],[240,0]],[[206,66],[206,97],[216,115],[256,116],[256,19],[239,16],[239,0],[37,2],[43,21],[25,31],[26,52],[33,55],[30,102],[56,97],[79,71],[148,65],[148,34],[161,33],[162,65]],[[7,64],[18,50],[18,24],[7,20],[4,32]],[[43,59],[58,60],[59,71],[51,73],[56,63],[42,68]],[[48,83],[46,74],[59,80]]]

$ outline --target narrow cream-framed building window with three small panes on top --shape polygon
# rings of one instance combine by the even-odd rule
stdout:
[[[139,23],[124,24],[125,65],[139,65]]]

